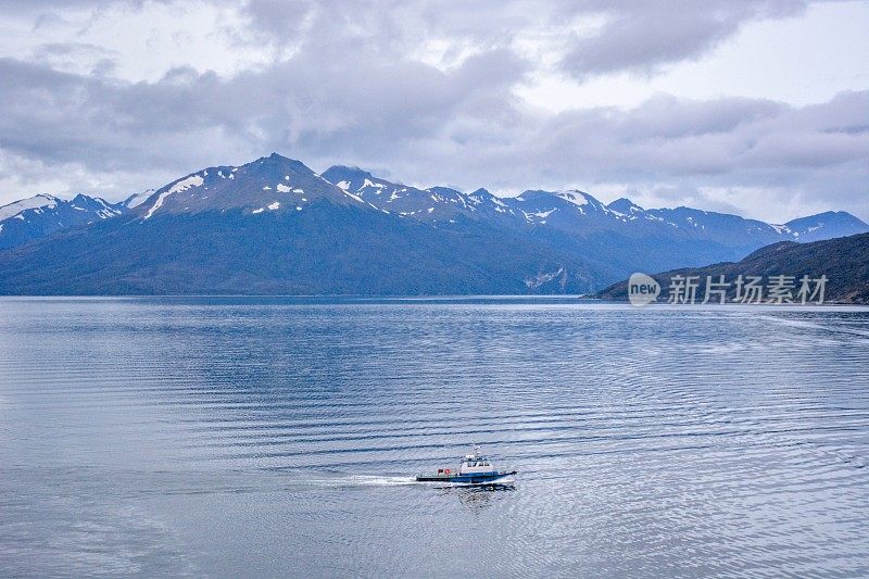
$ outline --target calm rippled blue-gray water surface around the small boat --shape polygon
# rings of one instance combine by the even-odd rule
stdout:
[[[865,577],[868,385],[868,310],[3,299],[0,575]]]

